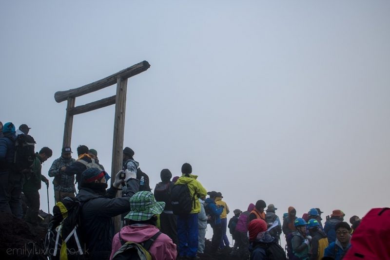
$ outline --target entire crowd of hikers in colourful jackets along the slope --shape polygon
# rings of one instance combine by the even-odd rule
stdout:
[[[39,226],[41,182],[49,187],[41,164],[53,152],[43,147],[35,153],[29,130],[25,124],[16,130],[13,123],[0,122],[0,211]],[[298,218],[291,206],[280,219],[274,204],[258,200],[245,211],[234,209],[228,221],[230,209],[222,193],[207,191],[188,163],[182,165],[181,176],[162,169],[152,193],[133,149],[123,149],[123,167],[113,173],[109,188],[111,177],[98,151],[80,145],[77,154],[74,159],[72,149],[63,147],[48,172],[56,201],[45,239],[51,259],[198,259],[205,253],[208,225],[213,229],[208,254],[215,259],[221,259],[226,248],[232,258],[250,260],[390,258],[389,208],[372,209],[363,219],[353,216],[351,225],[344,221],[344,212],[335,209],[323,224],[320,208]],[[116,234],[114,217],[120,223]],[[362,242],[367,232],[381,242]]]

